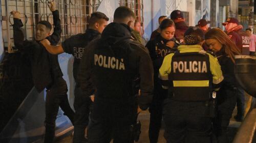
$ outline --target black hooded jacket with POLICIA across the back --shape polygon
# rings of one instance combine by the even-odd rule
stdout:
[[[133,81],[138,81],[139,78],[139,106],[145,110],[153,95],[153,66],[147,49],[131,40],[129,26],[110,23],[104,29],[101,38],[92,41],[88,47],[83,54],[78,72],[78,83],[83,94],[90,96],[96,90],[96,97],[120,102],[131,94],[134,90],[131,88]],[[97,63],[100,54],[106,55],[104,67]],[[110,60],[110,56],[115,61],[122,61],[123,58],[123,62],[120,63],[124,63],[125,70],[111,68],[107,61]],[[117,64],[115,67],[118,67]],[[132,94],[135,95],[136,92]]]

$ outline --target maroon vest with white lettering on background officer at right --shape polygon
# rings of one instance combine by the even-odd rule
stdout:
[[[243,55],[250,55],[250,37],[242,31],[237,32],[241,39],[241,44],[239,44],[239,48]]]

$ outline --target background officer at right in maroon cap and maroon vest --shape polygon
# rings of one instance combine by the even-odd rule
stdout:
[[[243,32],[243,26],[239,24],[238,19],[228,18],[226,22],[222,23],[225,26],[225,30],[229,38],[237,45],[243,55],[250,54],[250,37]],[[242,122],[245,112],[245,97],[244,90],[240,85],[237,86],[237,115],[234,117],[236,121]]]

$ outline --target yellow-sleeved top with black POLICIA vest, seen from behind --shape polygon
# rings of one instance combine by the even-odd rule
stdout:
[[[218,89],[223,80],[218,60],[200,45],[182,45],[178,49],[179,52],[165,56],[159,69],[163,88],[170,88],[168,97],[184,101],[209,100],[212,90]]]

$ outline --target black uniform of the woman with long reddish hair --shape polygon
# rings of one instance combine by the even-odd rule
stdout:
[[[220,91],[217,92],[217,116],[214,122],[215,131],[219,143],[226,143],[228,141],[227,127],[232,117],[232,112],[236,106],[236,96],[238,82],[234,76],[234,63],[225,53],[222,48],[217,54],[218,61],[221,65],[221,70],[224,80]]]

